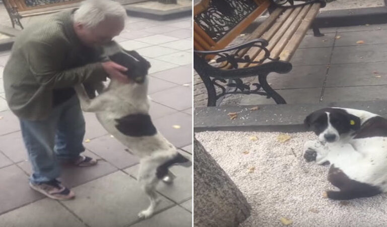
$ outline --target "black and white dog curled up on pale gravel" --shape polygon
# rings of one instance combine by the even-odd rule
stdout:
[[[318,140],[304,144],[304,158],[330,162],[328,180],[340,191],[331,199],[348,200],[387,192],[387,120],[364,110],[324,108],[306,117]]]

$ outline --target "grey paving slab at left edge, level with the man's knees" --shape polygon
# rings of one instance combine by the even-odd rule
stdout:
[[[15,163],[28,159],[20,131],[0,136],[0,150]]]

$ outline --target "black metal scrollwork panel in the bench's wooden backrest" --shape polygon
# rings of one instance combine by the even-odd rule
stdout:
[[[257,7],[251,0],[211,0],[208,8],[194,20],[214,41],[218,41]]]

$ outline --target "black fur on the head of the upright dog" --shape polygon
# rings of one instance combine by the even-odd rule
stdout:
[[[148,69],[151,67],[151,64],[135,50],[117,52],[110,55],[109,59],[126,67],[128,69],[125,72],[126,76],[140,84],[144,83],[145,76],[148,75]]]

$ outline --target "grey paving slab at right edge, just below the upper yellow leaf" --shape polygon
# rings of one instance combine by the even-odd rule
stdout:
[[[338,46],[333,49],[332,63],[380,62],[387,59],[387,44]]]

